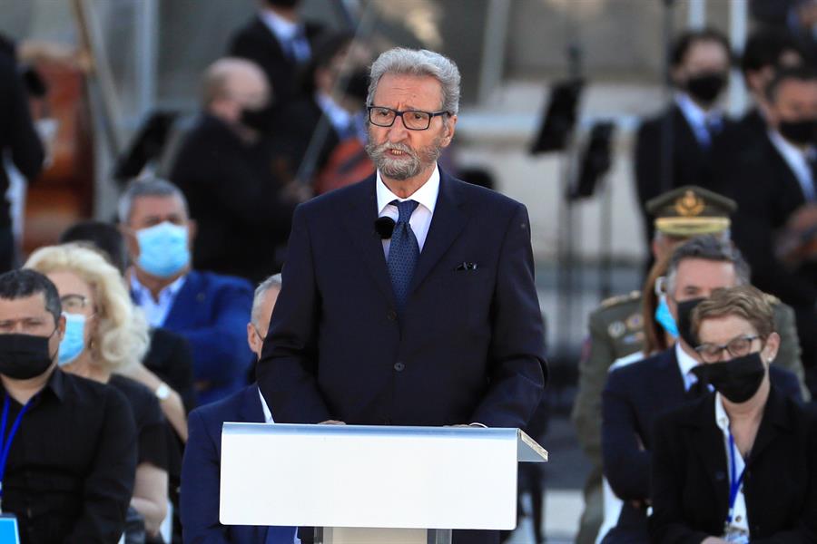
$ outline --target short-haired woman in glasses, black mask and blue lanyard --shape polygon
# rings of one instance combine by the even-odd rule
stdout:
[[[817,541],[817,418],[770,382],[772,307],[754,287],[718,289],[692,327],[714,391],[655,423],[653,541]]]

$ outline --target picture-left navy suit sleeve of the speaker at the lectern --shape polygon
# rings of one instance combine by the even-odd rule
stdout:
[[[327,421],[332,415],[317,384],[320,292],[303,206],[295,210],[281,274],[281,294],[256,369],[258,384],[276,422]]]

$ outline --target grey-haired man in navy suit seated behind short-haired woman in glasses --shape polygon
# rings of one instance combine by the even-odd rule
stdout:
[[[611,371],[602,396],[604,471],[615,495],[624,500],[617,525],[603,542],[648,542],[646,510],[650,493],[650,450],[655,416],[705,393],[692,370],[698,364],[689,316],[719,287],[746,285],[749,268],[728,241],[693,238],[673,252],[664,290],[681,337],[674,346]],[[791,372],[770,368],[773,384],[801,400]]]

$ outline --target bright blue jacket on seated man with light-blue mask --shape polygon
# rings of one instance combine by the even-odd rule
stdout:
[[[212,403],[247,384],[253,289],[245,279],[191,270],[162,327],[187,338],[198,403]],[[137,301],[138,302],[138,301]]]

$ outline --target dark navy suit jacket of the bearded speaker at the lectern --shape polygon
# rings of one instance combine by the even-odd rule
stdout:
[[[440,172],[400,317],[375,182],[295,212],[258,365],[276,421],[524,427],[546,368],[527,209]]]

